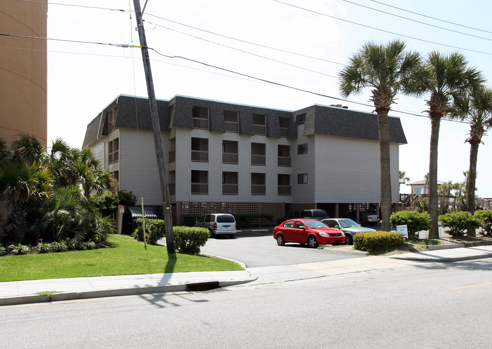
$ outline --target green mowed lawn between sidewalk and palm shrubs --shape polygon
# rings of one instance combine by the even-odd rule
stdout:
[[[0,256],[0,282],[86,276],[243,270],[229,260],[190,254],[168,255],[163,246],[110,235],[114,247],[90,251]]]

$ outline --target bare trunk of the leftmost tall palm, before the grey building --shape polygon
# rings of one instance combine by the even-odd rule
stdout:
[[[381,165],[381,230],[390,231],[391,215],[391,169],[390,169],[390,127],[388,113],[377,115],[379,128],[379,149]]]

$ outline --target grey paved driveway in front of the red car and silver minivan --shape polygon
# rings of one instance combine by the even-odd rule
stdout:
[[[201,248],[204,254],[214,254],[241,261],[249,268],[358,258],[357,254],[340,254],[326,250],[309,249],[299,244],[278,246],[269,231],[238,231],[234,239],[218,236],[209,239]]]

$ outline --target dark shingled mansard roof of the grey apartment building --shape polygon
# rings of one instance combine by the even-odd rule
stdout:
[[[107,135],[107,110],[118,104],[116,128],[152,130],[148,98],[120,95],[87,126],[83,146],[98,136]],[[176,95],[170,101],[157,100],[160,129],[193,128],[193,106],[204,106],[210,112],[210,131],[225,132],[224,110],[239,112],[239,134],[253,135],[253,114],[266,115],[267,137],[280,137],[279,117],[289,118],[287,138],[297,138],[297,117],[306,114],[304,135],[325,134],[368,140],[379,140],[377,115],[346,108],[311,105],[293,112],[243,104]],[[399,118],[390,117],[390,141],[406,144]],[[99,134],[97,134],[99,131]]]

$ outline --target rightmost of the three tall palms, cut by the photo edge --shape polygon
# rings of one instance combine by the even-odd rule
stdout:
[[[467,207],[475,211],[475,179],[477,176],[478,146],[482,137],[492,128],[492,90],[476,89],[468,95],[455,98],[450,111],[452,118],[470,123],[470,133],[465,142],[470,143],[470,167],[467,176]],[[468,236],[475,236],[475,229],[468,229]]]

